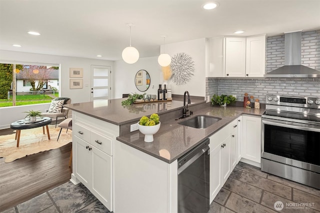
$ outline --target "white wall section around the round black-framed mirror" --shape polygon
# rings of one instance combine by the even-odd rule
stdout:
[[[140,70],[146,70],[150,75],[150,87],[145,91],[147,94],[157,94],[159,84],[163,83],[161,66],[156,57],[139,58],[134,64],[127,64],[123,60],[114,61],[114,98],[122,98],[122,94],[140,92],[134,84],[135,74]],[[163,86],[162,86],[163,88]]]

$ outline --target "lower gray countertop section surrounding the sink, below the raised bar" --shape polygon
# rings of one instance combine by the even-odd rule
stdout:
[[[178,124],[181,120],[161,120],[160,117],[161,126],[159,131],[153,135],[153,142],[144,142],[144,135],[139,131],[119,136],[117,140],[166,163],[171,163],[238,116],[242,114],[261,116],[263,112],[264,109],[246,109],[236,106],[212,107],[206,105],[202,109],[193,112],[193,116],[209,115],[219,117],[221,120],[205,129],[182,126]]]

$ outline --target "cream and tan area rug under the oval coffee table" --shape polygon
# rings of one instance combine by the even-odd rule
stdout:
[[[43,134],[42,127],[21,130],[19,147],[16,147],[16,140],[14,140],[15,132],[0,136],[0,158],[5,158],[4,162],[9,163],[27,155],[57,149],[72,141],[71,130],[66,133],[66,129],[62,129],[59,140],[56,141],[60,128],[55,128],[55,125],[48,125],[48,127],[50,140],[46,130]]]

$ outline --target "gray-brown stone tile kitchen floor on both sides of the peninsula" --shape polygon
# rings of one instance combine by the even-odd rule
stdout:
[[[282,210],[275,210],[276,202],[282,202]],[[3,213],[75,212],[109,213],[82,184],[73,185],[71,182]],[[261,172],[259,168],[239,162],[215,197],[208,213],[245,212],[320,213],[320,190]]]

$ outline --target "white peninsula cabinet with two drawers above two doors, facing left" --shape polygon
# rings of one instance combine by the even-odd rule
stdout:
[[[80,181],[111,212],[112,147],[117,129],[116,125],[72,112],[72,178]]]

